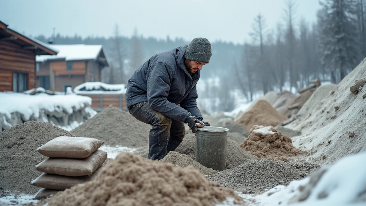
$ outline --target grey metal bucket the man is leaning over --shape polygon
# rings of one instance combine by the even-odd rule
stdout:
[[[228,131],[216,126],[197,128],[196,161],[206,168],[225,170]]]

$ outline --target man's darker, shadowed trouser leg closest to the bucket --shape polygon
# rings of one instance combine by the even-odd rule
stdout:
[[[185,134],[186,128],[184,127],[184,123],[172,119],[167,153],[174,151],[182,143]]]

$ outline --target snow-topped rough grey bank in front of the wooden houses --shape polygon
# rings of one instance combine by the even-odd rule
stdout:
[[[34,120],[70,131],[97,114],[90,107],[91,98],[86,96],[43,92],[30,95],[30,92],[0,92],[0,130]]]

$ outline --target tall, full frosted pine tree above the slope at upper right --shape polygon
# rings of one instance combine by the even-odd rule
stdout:
[[[318,12],[321,63],[333,83],[340,82],[358,60],[356,1],[325,0]]]

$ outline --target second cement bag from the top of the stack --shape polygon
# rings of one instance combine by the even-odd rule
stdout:
[[[47,158],[36,165],[36,169],[49,174],[73,177],[83,176],[97,170],[104,163],[105,159],[107,159],[107,152],[97,150],[84,159]]]

